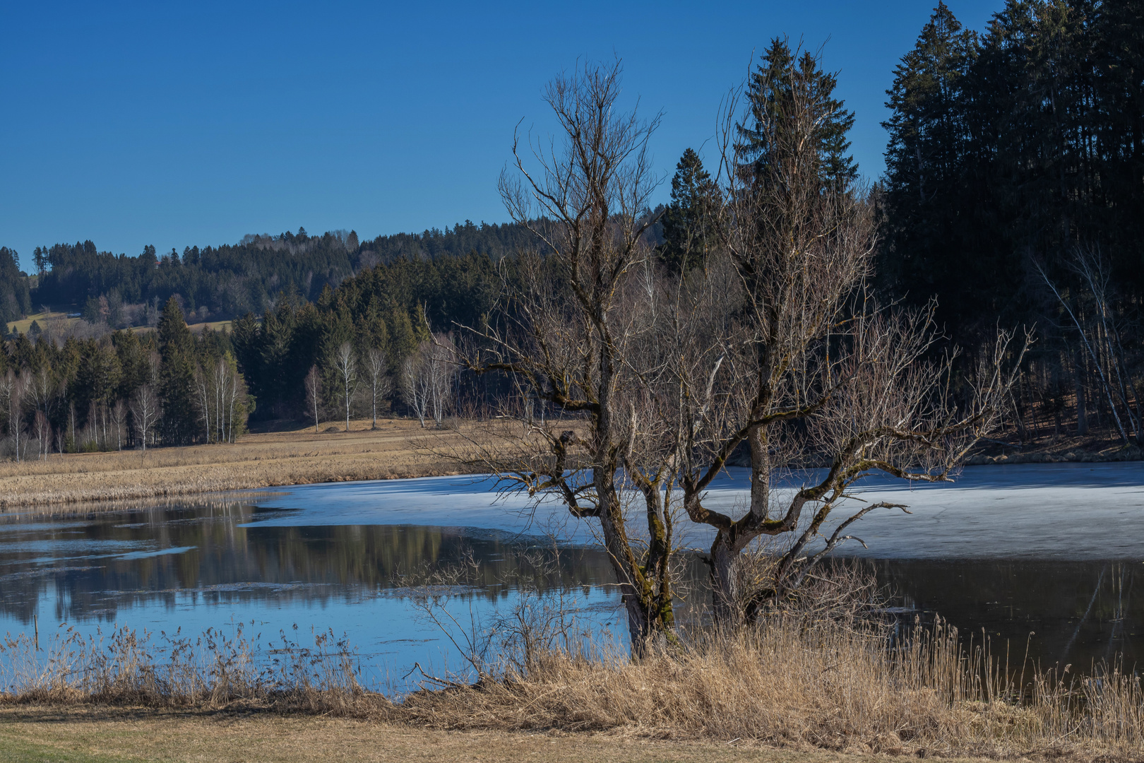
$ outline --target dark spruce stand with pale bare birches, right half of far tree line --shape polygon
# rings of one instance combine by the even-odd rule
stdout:
[[[413,383],[410,375],[416,376],[413,372],[422,366],[426,373],[442,369],[439,358],[430,363],[438,351],[431,349],[434,334],[479,325],[498,293],[498,269],[511,268],[514,260],[496,263],[476,252],[398,257],[366,268],[337,288],[327,286],[313,302],[287,291],[261,319],[253,312],[244,315],[235,321],[231,336],[259,400],[259,415],[309,418],[316,423],[327,408],[349,415],[368,408],[375,416],[379,406],[389,410],[392,390],[399,392],[396,402],[405,406],[403,411],[423,419],[423,400],[429,398],[414,394],[421,382]],[[311,369],[315,376],[308,386]],[[383,395],[378,395],[378,384],[384,386]],[[436,411],[432,418],[439,422],[445,415],[440,395],[430,397],[438,404],[428,410]]]

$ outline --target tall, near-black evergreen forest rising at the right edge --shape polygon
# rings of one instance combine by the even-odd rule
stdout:
[[[939,3],[888,95],[881,289],[936,296],[970,358],[1036,325],[1018,436],[1141,437],[1144,3],[1009,0],[982,33]]]

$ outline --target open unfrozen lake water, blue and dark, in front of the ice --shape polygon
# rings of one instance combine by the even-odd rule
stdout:
[[[484,500],[484,520],[495,524],[503,509]],[[296,625],[345,633],[363,655],[404,670],[415,660],[424,663],[427,652],[448,651],[439,631],[411,617],[408,587],[470,557],[479,563],[471,596],[485,612],[514,601],[515,581],[534,579],[573,591],[594,627],[623,633],[612,571],[596,548],[555,549],[543,538],[487,527],[323,524],[313,506],[199,500],[0,518],[0,635],[50,631],[59,622],[197,633],[239,620],[270,634]],[[1134,596],[1144,573],[1139,561],[864,564],[873,565],[905,621],[940,613],[963,634],[984,629],[995,651],[1008,642],[1014,659],[1030,631],[1036,634],[1031,653],[1046,666],[1087,668],[1123,654],[1131,667],[1144,657],[1144,603]],[[551,574],[538,578],[541,567]],[[699,555],[688,556],[685,570],[685,605],[701,605],[707,593]],[[689,614],[694,610],[681,619]]]

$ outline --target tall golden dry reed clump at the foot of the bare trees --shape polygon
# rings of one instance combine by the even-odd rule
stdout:
[[[1071,683],[1034,673],[1023,691],[985,650],[964,654],[948,628],[919,628],[891,647],[876,629],[778,618],[637,662],[549,652],[526,675],[413,694],[388,717],[858,753],[1131,757],[1144,754],[1142,714],[1139,678],[1117,670]]]

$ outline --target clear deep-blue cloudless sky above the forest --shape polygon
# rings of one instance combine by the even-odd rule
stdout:
[[[138,254],[245,233],[502,222],[513,128],[577,58],[662,110],[656,161],[714,134],[776,34],[826,42],[883,169],[884,90],[935,2],[0,2],[0,245]],[[1000,0],[951,0],[982,29]],[[709,158],[709,157],[708,157]],[[666,200],[669,185],[660,197]]]

